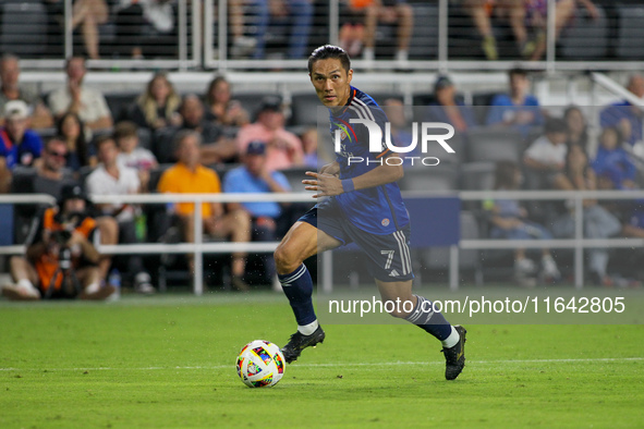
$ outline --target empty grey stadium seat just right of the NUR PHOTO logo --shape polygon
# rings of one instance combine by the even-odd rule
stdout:
[[[523,146],[521,133],[514,128],[500,126],[473,128],[467,133],[467,161],[520,162]]]

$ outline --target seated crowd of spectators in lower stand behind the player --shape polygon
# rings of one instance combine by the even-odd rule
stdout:
[[[214,76],[203,94],[181,95],[166,74],[157,73],[121,111],[110,111],[106,95],[84,83],[87,70],[83,58],[68,60],[68,82],[47,95],[17,84],[16,60],[11,54],[0,60],[2,193],[48,194],[60,200],[63,187],[70,183],[81,185],[89,198],[154,192],[278,193],[291,189],[282,172],[302,173],[315,168],[318,156],[323,156],[316,151],[315,128],[289,122],[278,95],[257,100],[256,110],[246,111],[220,75]],[[435,82],[427,107],[414,120],[449,122],[458,130],[465,155],[453,169],[481,161],[476,146],[482,145],[478,138],[484,132],[511,139],[511,147],[486,155],[485,161],[497,162],[494,188],[632,189],[643,184],[642,162],[634,149],[644,144],[643,115],[637,108],[628,101],[607,106],[600,113],[600,130],[595,133],[581,108],[570,107],[561,114],[539,106],[530,94],[528,72],[513,69],[508,77],[508,91],[479,98],[482,106],[467,106],[449,76],[439,76]],[[632,75],[627,87],[635,96],[644,96],[644,77]],[[405,144],[411,138],[404,132],[410,121],[404,118],[401,99],[390,97],[384,106],[399,109],[396,114],[392,111],[392,122],[402,132],[394,139]],[[404,188],[404,179],[401,185]],[[454,183],[451,188],[461,185]],[[556,204],[544,207],[486,201],[484,230],[489,236],[506,238],[572,236],[569,208]],[[272,241],[281,237],[304,209],[301,205],[269,203],[204,205],[204,231],[207,240]],[[192,204],[96,205],[93,210],[102,244],[194,240]],[[642,237],[643,212],[637,201],[585,201],[584,233],[587,237]],[[19,244],[26,238],[37,211],[23,207],[16,213],[23,220],[14,229],[14,242]],[[588,254],[591,274],[597,284],[635,284],[635,280],[620,273],[609,273],[608,252],[594,249]],[[247,272],[248,258],[234,254],[230,263],[216,265],[216,271],[230,267],[229,284],[246,291],[252,277]],[[514,258],[517,279],[528,284],[526,279],[536,275],[538,267],[522,250]],[[266,284],[274,280],[275,267],[270,258],[264,259],[259,271],[260,282]],[[561,278],[555,259],[544,250],[540,274],[548,281]],[[166,266],[172,265],[169,260],[192,272],[190,258],[166,258]],[[155,291],[151,284],[157,273],[150,270],[156,263],[145,257],[112,260],[102,256],[98,263],[102,282],[118,269],[136,291]]]

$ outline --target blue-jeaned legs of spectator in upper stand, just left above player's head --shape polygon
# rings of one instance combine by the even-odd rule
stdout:
[[[308,34],[313,23],[313,0],[246,0],[253,13],[257,14],[255,27],[257,44],[255,59],[265,57],[269,25],[290,28],[288,58],[303,58],[307,52]]]

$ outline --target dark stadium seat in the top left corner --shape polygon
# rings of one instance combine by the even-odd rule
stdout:
[[[0,3],[0,51],[38,56],[47,48],[47,11],[35,1]]]

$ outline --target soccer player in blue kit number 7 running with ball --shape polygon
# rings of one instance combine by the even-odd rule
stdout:
[[[351,119],[374,121],[385,135],[387,117],[368,95],[351,86],[353,70],[342,48],[326,45],[314,50],[308,58],[308,75],[318,98],[329,108],[331,134],[342,130],[342,150],[319,172],[306,173],[311,179],[302,181],[305,188],[317,192],[316,198],[328,198],[300,218],[275,252],[279,279],[297,321],[297,332],[282,347],[284,358],[292,363],[304,348],[325,340],[313,309],[313,281],[303,261],[355,242],[368,257],[382,301],[400,299],[414,305],[411,312],[396,308],[391,316],[417,324],[442,343],[445,377],[453,380],[465,366],[466,331],[452,327],[429,301],[412,294],[410,220],[396,184],[403,168],[375,162],[386,158],[388,150],[369,152],[366,126],[350,123]],[[373,162],[350,166],[349,156]]]

